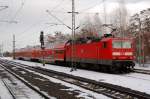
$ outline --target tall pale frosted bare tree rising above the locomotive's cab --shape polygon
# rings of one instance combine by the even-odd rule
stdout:
[[[125,37],[127,36],[127,26],[128,26],[128,12],[126,8],[126,3],[124,0],[118,0],[119,6],[109,15],[110,23],[117,28],[115,36]]]

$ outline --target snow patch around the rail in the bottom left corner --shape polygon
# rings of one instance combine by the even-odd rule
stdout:
[[[4,70],[0,68],[0,70]],[[5,72],[8,77],[10,77],[11,80],[7,78],[1,78],[0,77],[0,99],[14,99],[4,83],[2,82],[2,79],[7,83],[7,85],[10,87],[11,91],[15,94],[15,96],[18,99],[44,99],[41,97],[38,93],[27,87],[24,83],[22,83],[20,80],[12,76],[11,74]]]

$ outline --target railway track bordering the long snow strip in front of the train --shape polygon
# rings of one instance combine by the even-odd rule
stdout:
[[[131,90],[129,88],[124,88],[124,87],[120,87],[117,85],[112,85],[112,84],[108,84],[104,82],[97,82],[94,80],[77,77],[77,76],[65,74],[62,72],[56,72],[53,70],[43,69],[40,67],[30,67],[30,66],[12,62],[12,61],[7,61],[7,60],[0,60],[0,61],[1,63],[3,63],[3,65],[11,65],[11,66],[16,66],[16,68],[29,69],[29,70],[62,80],[64,82],[80,86],[87,90],[91,90],[96,93],[106,95],[114,99],[150,99],[150,95],[139,92],[139,91]]]

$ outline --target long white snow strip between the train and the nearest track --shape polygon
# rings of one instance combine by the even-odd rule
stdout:
[[[5,59],[12,60],[11,58],[5,58]],[[107,74],[107,73],[100,73],[100,72],[87,71],[81,69],[70,72],[70,68],[68,67],[61,67],[61,66],[55,66],[49,64],[46,64],[46,66],[43,67],[42,64],[40,63],[20,61],[20,60],[13,60],[13,61],[20,62],[30,66],[39,66],[46,69],[52,69],[55,71],[64,72],[75,76],[85,77],[96,81],[120,85],[123,87],[131,88],[133,90],[138,90],[150,94],[150,76],[145,74],[129,73],[129,74],[116,75],[116,74]],[[150,68],[150,66],[147,68]]]

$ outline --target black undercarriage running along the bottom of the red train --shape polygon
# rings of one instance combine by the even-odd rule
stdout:
[[[24,58],[19,58],[20,60],[26,60]],[[34,62],[42,62],[39,59],[30,59]],[[107,64],[105,63],[107,62]],[[115,60],[115,61],[101,61],[98,64],[95,63],[85,63],[85,62],[71,62],[71,61],[55,61],[53,63],[48,62],[49,64],[56,64],[66,67],[75,67],[81,69],[88,69],[100,72],[107,73],[128,73],[133,70],[134,62],[131,60]],[[100,64],[101,63],[101,64]],[[103,63],[103,64],[102,64]]]

